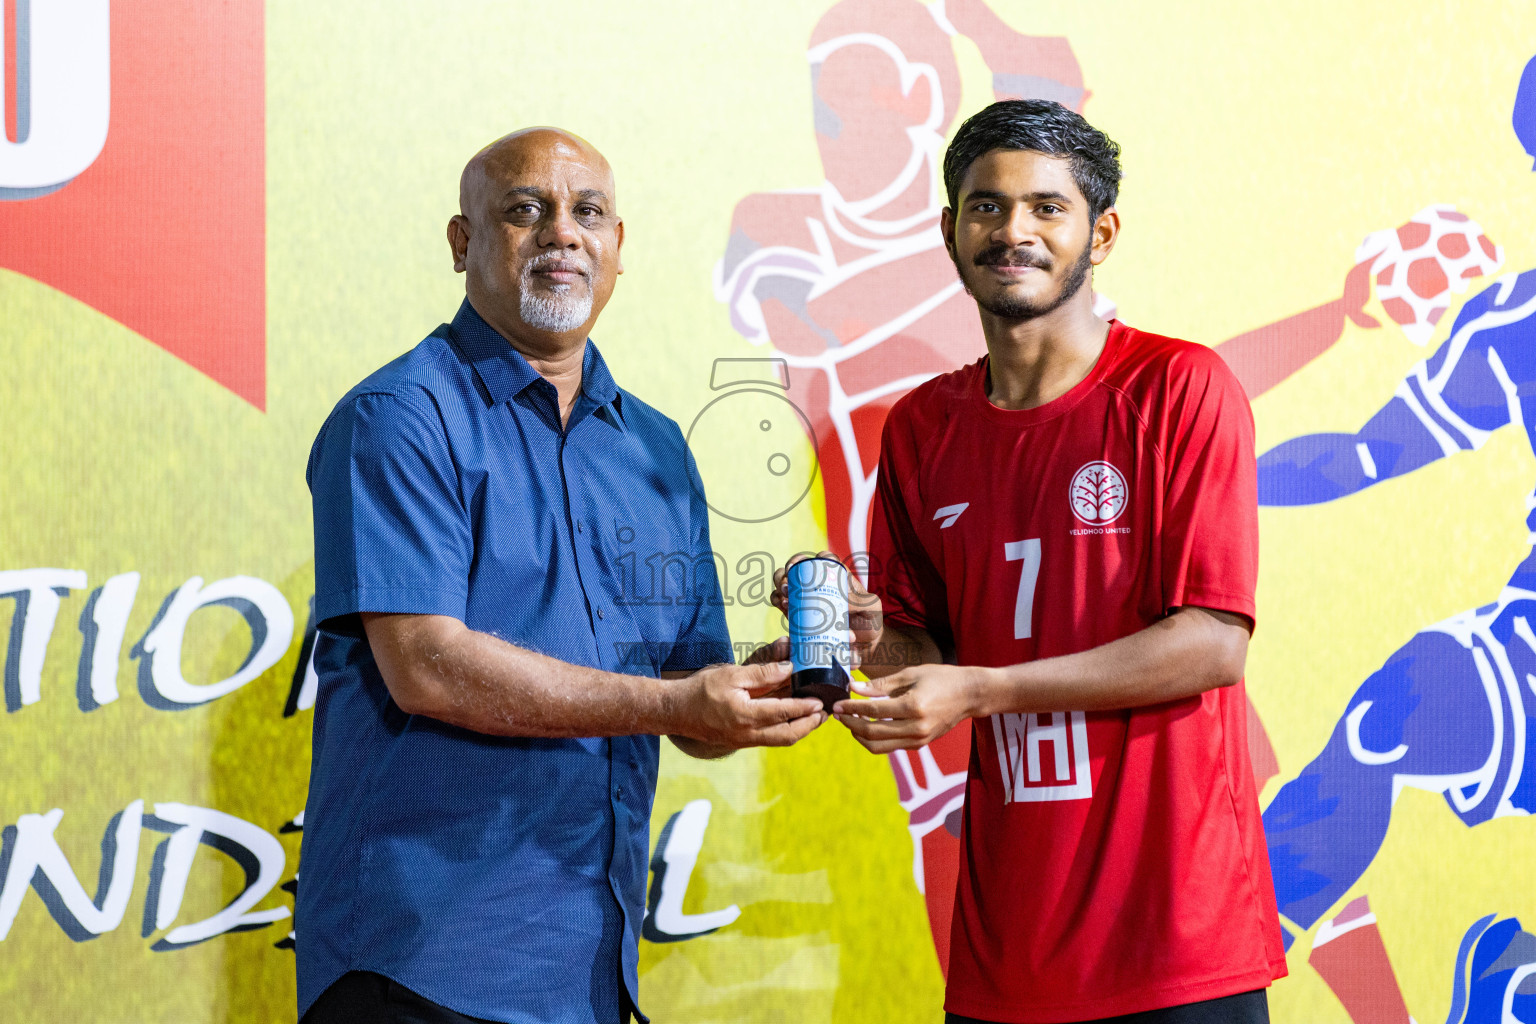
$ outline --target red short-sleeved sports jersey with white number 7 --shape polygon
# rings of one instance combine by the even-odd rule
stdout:
[[[983,358],[885,425],[871,582],[960,665],[1253,617],[1253,415],[1210,348],[1115,321],[1061,398],[1003,410]],[[1055,1022],[1286,975],[1243,685],[1150,708],[977,718],[951,1013]]]

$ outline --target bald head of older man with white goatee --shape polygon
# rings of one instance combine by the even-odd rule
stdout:
[[[582,347],[624,273],[613,169],[558,127],[504,135],[459,177],[449,221],[470,306],[525,355]]]

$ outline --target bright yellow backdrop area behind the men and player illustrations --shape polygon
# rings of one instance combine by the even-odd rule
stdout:
[[[98,875],[111,874],[103,857],[121,863],[104,837],[138,841],[132,874],[117,883],[126,904],[101,892],[97,910],[115,907],[118,921],[98,936],[71,935],[51,917],[40,894],[57,883],[29,887],[34,875],[20,867],[3,875],[0,1004],[14,1019],[292,1019],[292,952],[281,943],[290,917],[247,917],[249,930],[155,946],[241,892],[261,890],[247,915],[292,907],[281,886],[298,864],[303,834],[292,823],[309,765],[310,711],[295,705],[307,703],[301,648],[313,579],[303,474],[315,431],[355,381],[453,315],[462,279],[444,224],[459,169],[527,124],[576,130],[611,160],[625,275],[594,336],[617,381],[687,428],[717,395],[716,359],[768,355],[733,330],[716,263],[742,198],[823,180],[805,54],[828,6],[270,0],[264,408],[66,290],[0,270],[0,582],[28,594],[0,600],[8,694],[17,695],[0,720],[6,866],[15,851],[46,854],[38,837],[58,809],[52,837],[94,900]],[[1338,298],[1361,239],[1430,204],[1475,218],[1504,247],[1505,270],[1536,264],[1536,175],[1510,129],[1521,69],[1536,52],[1536,9],[1439,0],[992,6],[1021,32],[1069,40],[1091,91],[1084,114],[1124,147],[1124,235],[1095,289],[1134,325],[1215,344]],[[952,45],[965,114],[991,101],[992,69],[972,41]],[[8,206],[29,201],[0,201],[0,232],[12,230]],[[223,244],[220,209],[189,197],[178,215],[209,252]],[[86,233],[37,244],[98,243]],[[201,258],[198,247],[186,258]],[[1385,329],[1347,327],[1255,402],[1260,451],[1356,430],[1485,284],[1455,298],[1428,350],[1369,304]],[[717,430],[693,442],[710,464],[745,438]],[[1263,511],[1249,688],[1279,763],[1263,801],[1322,749],[1359,682],[1415,631],[1498,596],[1528,548],[1533,477],[1530,444],[1502,430],[1478,451],[1356,497]],[[771,522],[717,517],[713,531],[731,567],[753,551],[782,562],[820,548],[820,484]],[[31,570],[66,574],[3,576]],[[120,697],[101,702],[108,691],[91,689],[81,654],[88,634],[111,629],[77,622],[94,622],[92,593],[126,573],[140,579],[121,626]],[[281,657],[253,680],[163,709],[163,689],[141,679],[151,652],[134,648],[192,577],[201,586],[264,580],[293,625]],[[197,586],[184,600],[195,603]],[[229,588],[255,605],[267,593]],[[49,594],[58,606],[46,633],[37,623]],[[226,680],[261,646],[249,608],[209,603],[187,619],[187,683]],[[780,629],[765,605],[728,611],[736,640]],[[281,640],[280,614],[258,619],[258,633]],[[23,636],[28,623],[34,633]],[[169,679],[175,645],[164,629],[158,637],[167,652],[157,668]],[[37,700],[23,700],[26,656],[35,662],[38,651]],[[106,686],[112,666],[98,672]],[[943,981],[885,760],[836,726],[791,751],[722,763],[668,748],[653,837],[700,798],[710,818],[680,907],[736,906],[739,917],[700,938],[642,943],[654,1019],[940,1019]],[[114,832],[134,801],[154,827]],[[270,841],[189,808],[232,815]],[[246,835],[244,849],[267,858],[246,858],[260,861],[260,877],[207,832],[198,844],[198,827]],[[189,849],[184,898],[167,906],[174,861]],[[1409,1010],[1438,1021],[1468,926],[1488,913],[1536,915],[1533,863],[1536,826],[1525,818],[1467,827],[1442,797],[1410,788],[1379,855],[1338,906],[1369,895]],[[1307,933],[1292,947],[1272,1013],[1349,1021],[1309,967],[1310,944]]]

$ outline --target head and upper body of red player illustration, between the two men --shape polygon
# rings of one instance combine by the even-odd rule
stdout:
[[[714,272],[731,327],[790,367],[819,445],[828,543],[845,557],[866,550],[886,410],[983,352],[938,233],[957,34],[980,48],[998,100],[1087,98],[1064,38],[1015,32],[982,0],[842,0],[806,51],[825,180],[743,198]]]

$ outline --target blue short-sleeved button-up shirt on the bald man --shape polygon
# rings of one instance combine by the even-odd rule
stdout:
[[[358,613],[452,616],[614,672],[730,660],[682,433],[590,341],[562,430],[554,387],[464,302],[336,405],[309,484],[319,695],[300,1013],[375,970],[470,1016],[617,1021],[639,995],[657,738],[502,738],[409,715]]]

